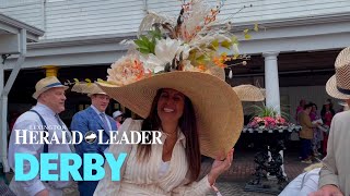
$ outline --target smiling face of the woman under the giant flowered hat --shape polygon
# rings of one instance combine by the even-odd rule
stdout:
[[[158,101],[158,114],[164,122],[178,122],[179,118],[184,113],[185,95],[171,89],[164,88],[161,93],[160,100]]]

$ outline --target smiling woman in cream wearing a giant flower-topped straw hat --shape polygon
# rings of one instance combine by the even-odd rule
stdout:
[[[161,131],[161,145],[110,145],[115,156],[128,152],[120,182],[110,181],[110,168],[95,195],[205,195],[228,170],[233,146],[243,127],[242,103],[224,81],[214,76],[225,54],[218,46],[234,46],[219,29],[209,28],[222,4],[203,1],[183,4],[174,22],[150,13],[135,40],[136,50],[108,70],[101,88],[143,121],[127,119],[119,132]],[[208,175],[196,182],[200,155],[214,158]]]

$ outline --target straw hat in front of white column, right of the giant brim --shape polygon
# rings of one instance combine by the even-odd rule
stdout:
[[[235,86],[232,89],[237,94],[241,101],[264,101],[266,97],[264,88],[250,84]]]

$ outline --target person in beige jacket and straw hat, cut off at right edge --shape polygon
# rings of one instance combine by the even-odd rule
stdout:
[[[328,95],[350,103],[350,47],[335,62],[336,74],[326,85]],[[319,172],[318,192],[313,196],[350,195],[350,111],[337,113],[330,124],[327,156]]]

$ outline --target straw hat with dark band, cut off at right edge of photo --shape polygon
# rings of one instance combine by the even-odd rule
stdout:
[[[340,51],[335,62],[336,74],[327,84],[327,94],[337,99],[350,99],[350,47]]]

